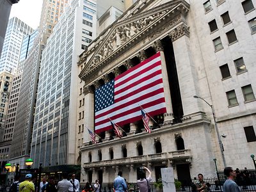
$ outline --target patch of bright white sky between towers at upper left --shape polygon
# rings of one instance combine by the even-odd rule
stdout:
[[[17,17],[36,29],[40,23],[42,4],[43,0],[20,0],[12,5],[9,19]]]

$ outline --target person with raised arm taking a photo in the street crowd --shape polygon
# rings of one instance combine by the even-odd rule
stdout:
[[[147,170],[147,172],[148,172],[148,177],[146,177],[145,170]],[[150,170],[148,170],[147,167],[142,166],[140,168],[140,172],[139,172],[138,175],[139,175],[140,179],[137,180],[137,184],[138,184],[138,187],[139,187],[140,191],[141,192],[150,191],[149,183],[152,180]]]

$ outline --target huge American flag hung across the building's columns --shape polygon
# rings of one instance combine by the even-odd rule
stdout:
[[[151,116],[166,113],[160,52],[95,90],[95,132],[141,120],[140,106]]]

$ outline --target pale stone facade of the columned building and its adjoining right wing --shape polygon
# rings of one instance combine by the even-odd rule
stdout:
[[[228,2],[210,1],[211,9],[205,12],[201,1],[136,1],[81,54],[79,67],[83,65],[83,70],[79,77],[84,81],[84,102],[88,104],[86,127],[91,129],[94,124],[93,90],[156,52],[161,54],[167,110],[161,126],[153,125],[151,134],[138,132],[143,125],[134,122],[124,138],[106,131],[100,134],[102,142],[92,145],[85,132],[80,148],[81,180],[99,178],[111,184],[122,170],[129,182],[136,182],[137,168],[143,165],[152,170],[153,181],[159,178],[160,168],[172,166],[175,178],[188,182],[198,173],[216,177],[214,158],[219,170],[225,162],[234,168],[253,168],[250,154],[255,152],[255,142],[248,141],[244,127],[255,129],[255,96],[250,92],[252,97],[246,100],[242,90],[246,85],[256,90],[252,78],[256,71],[252,64],[255,44],[250,43],[255,35],[248,27],[249,16],[237,16],[244,15],[242,4]],[[221,23],[221,14],[227,11],[234,25]],[[256,16],[254,10],[250,14]],[[213,19],[218,30],[211,32],[208,23]],[[238,23],[243,23],[243,33]],[[228,31],[232,29],[237,40],[230,43]],[[218,36],[223,49],[216,51],[214,40]],[[247,68],[243,73],[236,72],[239,68],[235,61],[240,57]],[[221,77],[220,67],[225,63],[230,68],[227,79]],[[228,102],[230,90],[236,92],[236,105]],[[218,138],[218,134],[224,137]]]

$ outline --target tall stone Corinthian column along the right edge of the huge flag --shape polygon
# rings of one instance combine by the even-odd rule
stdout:
[[[157,40],[154,42],[154,48],[157,52],[160,52],[161,56],[161,65],[162,65],[162,76],[163,76],[163,84],[164,84],[164,99],[166,104],[166,113],[164,113],[164,124],[172,124],[173,122],[173,108],[172,108],[172,99],[170,93],[170,85],[168,79],[168,73],[166,68],[166,61],[164,58],[164,49],[161,43],[161,40]]]

